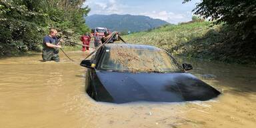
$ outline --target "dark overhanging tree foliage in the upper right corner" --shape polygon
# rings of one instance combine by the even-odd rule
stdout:
[[[184,3],[191,0],[184,0]],[[195,15],[211,17],[215,23],[225,23],[235,28],[236,37],[256,40],[256,1],[255,0],[203,0],[195,9]]]

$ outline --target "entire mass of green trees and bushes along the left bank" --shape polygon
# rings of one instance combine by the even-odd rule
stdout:
[[[50,28],[73,31],[71,37],[89,31],[83,16],[85,0],[0,1],[0,55],[40,51]]]

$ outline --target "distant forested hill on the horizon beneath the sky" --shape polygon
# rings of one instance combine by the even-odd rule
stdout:
[[[90,15],[85,17],[89,27],[107,27],[113,31],[145,31],[169,24],[161,19],[152,19],[142,15]]]

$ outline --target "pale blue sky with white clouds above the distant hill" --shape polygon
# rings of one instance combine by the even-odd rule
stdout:
[[[87,0],[84,6],[91,8],[88,15],[146,15],[177,24],[191,21],[192,10],[200,1],[191,0],[183,4],[183,0]]]

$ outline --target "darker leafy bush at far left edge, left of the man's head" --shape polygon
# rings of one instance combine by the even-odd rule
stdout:
[[[45,21],[45,13],[37,7],[32,10],[32,4],[31,1],[0,2],[0,55],[39,49],[38,35],[43,30],[39,23]]]

